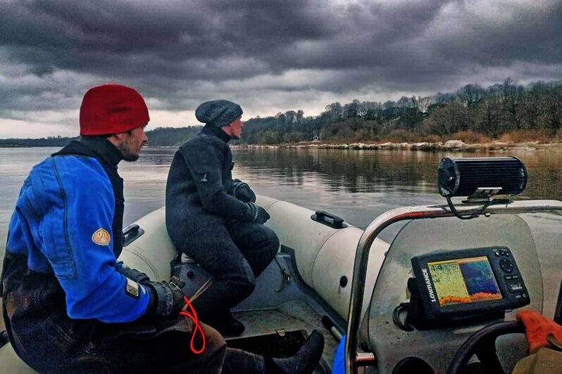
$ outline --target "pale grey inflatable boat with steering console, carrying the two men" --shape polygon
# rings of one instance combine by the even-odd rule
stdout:
[[[527,354],[517,311],[562,321],[561,275],[542,273],[539,262],[547,258],[540,251],[559,250],[561,235],[556,244],[540,244],[527,222],[537,214],[556,217],[562,202],[401,207],[362,230],[329,212],[257,199],[282,245],[234,310],[246,331],[227,337],[230,347],[289,356],[320,329],[326,344],[315,373],[331,373],[342,335],[336,361],[346,373],[509,373]],[[178,256],[164,222],[162,207],[125,228],[120,260],[155,280],[181,269],[191,297],[208,274]],[[392,240],[379,238],[399,222]],[[548,261],[562,269],[559,254]],[[0,348],[0,367],[33,373],[9,342]]]

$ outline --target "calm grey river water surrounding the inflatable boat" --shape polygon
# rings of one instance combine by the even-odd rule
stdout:
[[[58,148],[0,148],[0,254],[7,225],[25,176],[32,165]],[[121,162],[125,179],[124,224],[164,204],[166,178],[176,148],[147,147],[137,162]],[[407,205],[444,203],[437,193],[437,165],[442,157],[515,155],[529,172],[524,198],[562,200],[562,152],[510,153],[424,152],[411,150],[235,149],[233,176],[258,194],[287,200],[313,210],[327,210],[365,228],[383,212]],[[560,256],[555,244],[562,219],[538,215],[539,231],[549,256]],[[558,241],[558,243],[561,243]],[[549,264],[549,258],[542,260]],[[559,269],[547,271],[558,287]]]

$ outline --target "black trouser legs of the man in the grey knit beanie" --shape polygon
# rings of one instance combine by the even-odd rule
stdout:
[[[261,224],[229,221],[197,231],[178,249],[213,276],[212,285],[193,302],[197,314],[208,321],[254,291],[256,278],[279,250],[279,238]]]

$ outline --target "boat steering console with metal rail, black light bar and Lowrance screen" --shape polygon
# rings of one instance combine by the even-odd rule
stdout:
[[[527,221],[562,211],[562,203],[514,201],[527,183],[516,157],[446,157],[438,174],[447,205],[393,209],[359,240],[346,329],[348,374],[360,367],[365,373],[458,373],[474,354],[477,369],[511,371],[527,355],[518,310],[542,312],[556,304]],[[400,221],[406,224],[385,254],[362,316],[370,245]]]

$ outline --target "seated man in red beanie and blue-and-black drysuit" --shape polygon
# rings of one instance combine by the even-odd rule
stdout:
[[[95,86],[80,107],[82,137],[27,176],[0,289],[16,354],[41,373],[308,372],[320,357],[307,346],[289,359],[266,359],[227,349],[206,325],[206,349],[195,354],[194,325],[179,315],[180,288],[117,262],[124,207],[117,165],[137,160],[148,122],[135,89]],[[201,347],[200,335],[194,344]]]

